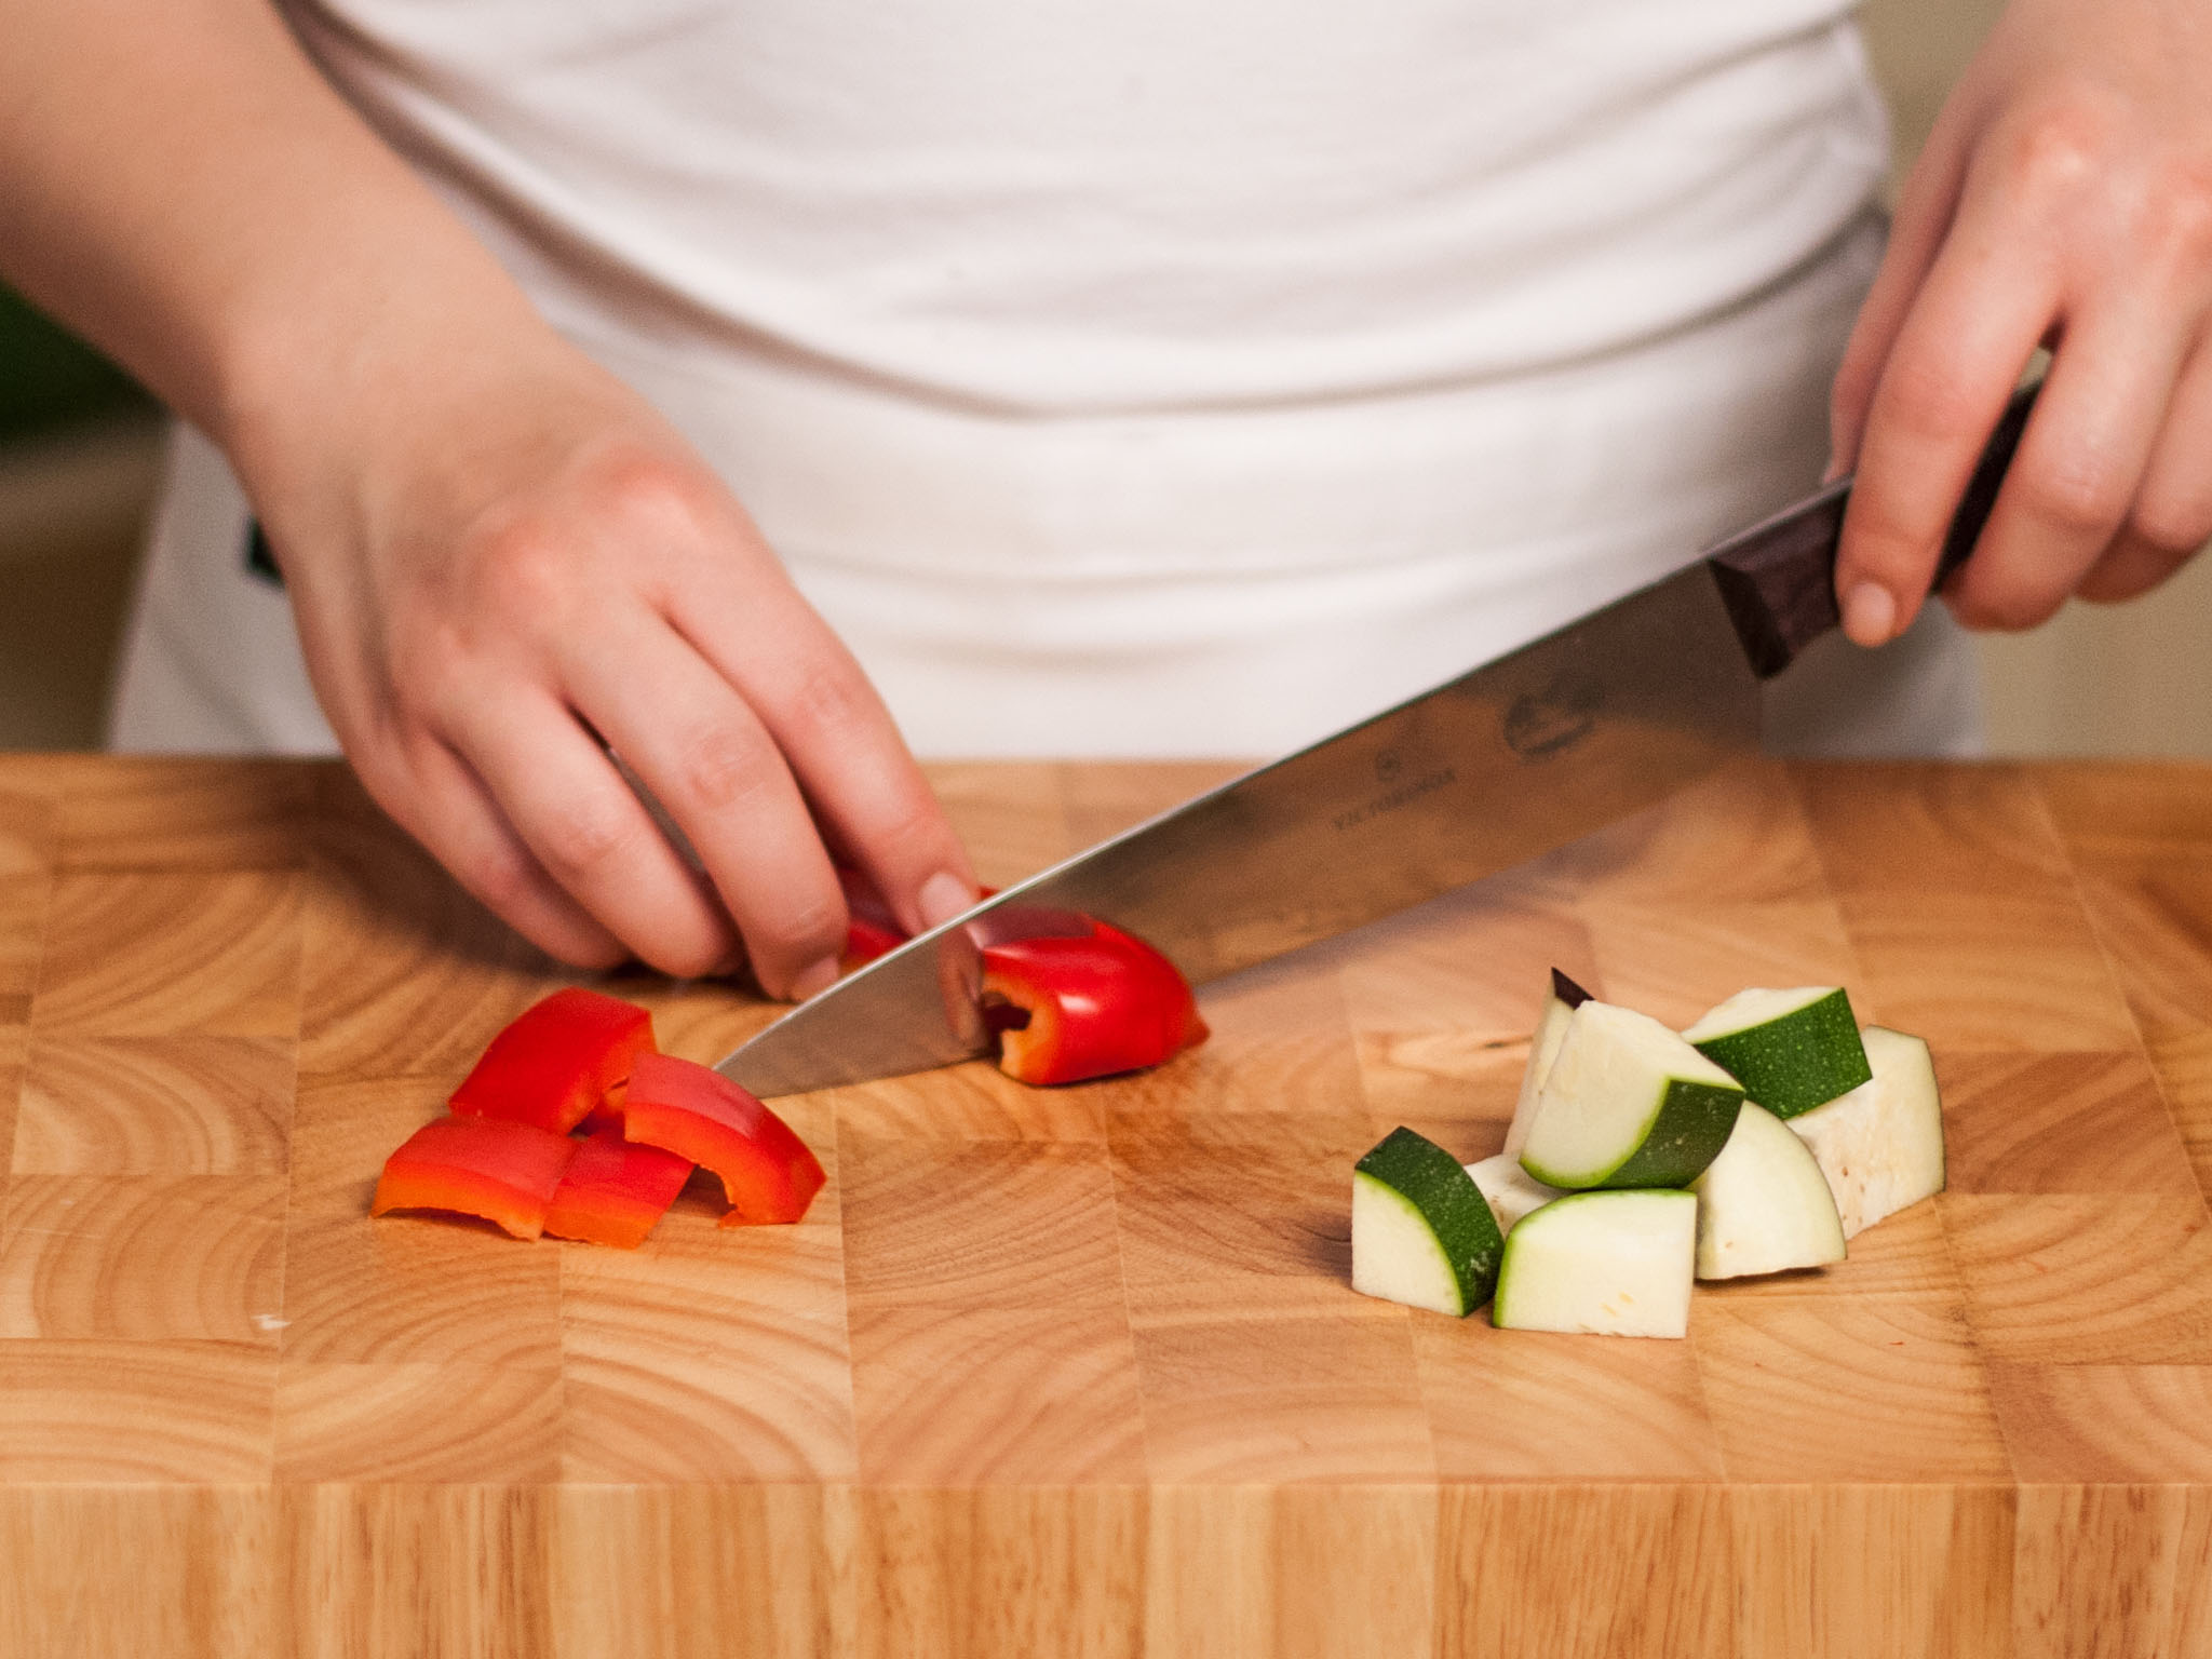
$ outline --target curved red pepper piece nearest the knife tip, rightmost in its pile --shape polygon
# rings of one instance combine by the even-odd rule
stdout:
[[[796,1221],[823,1188],[823,1166],[792,1126],[719,1071],[644,1055],[622,1104],[624,1135],[721,1177],[723,1225]]]

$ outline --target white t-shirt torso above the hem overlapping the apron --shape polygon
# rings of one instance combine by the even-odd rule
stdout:
[[[1391,396],[1652,338],[1882,168],[1845,0],[292,0],[555,314],[914,398]]]

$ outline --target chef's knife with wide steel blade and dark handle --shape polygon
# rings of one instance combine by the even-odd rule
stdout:
[[[1944,542],[1966,560],[2035,387],[2000,420]],[[876,958],[721,1062],[757,1095],[987,1053],[982,947],[1099,916],[1192,984],[1511,869],[1759,743],[1761,681],[1836,626],[1851,480],[1447,686],[1006,887]],[[1079,929],[1077,929],[1079,931]]]

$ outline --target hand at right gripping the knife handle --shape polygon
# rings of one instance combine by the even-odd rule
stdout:
[[[2212,538],[2212,4],[2013,0],[1942,111],[1836,376],[1843,626],[1896,637],[2037,345],[1969,628],[2130,599]]]

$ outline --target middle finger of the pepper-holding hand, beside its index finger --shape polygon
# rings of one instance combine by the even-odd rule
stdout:
[[[564,672],[699,852],[761,984],[810,995],[834,980],[845,894],[785,757],[739,692],[648,613],[615,622]]]

